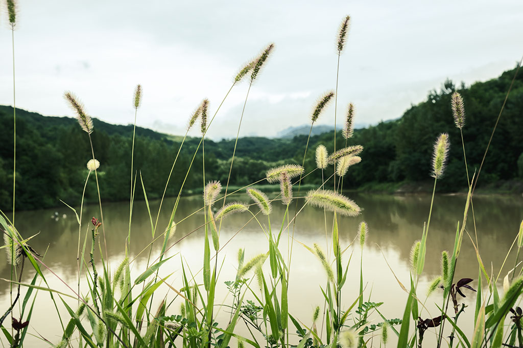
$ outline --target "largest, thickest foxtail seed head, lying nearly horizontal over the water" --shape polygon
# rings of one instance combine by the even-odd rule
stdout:
[[[349,217],[356,217],[361,212],[360,207],[353,200],[333,190],[311,190],[307,193],[306,200],[315,207]]]

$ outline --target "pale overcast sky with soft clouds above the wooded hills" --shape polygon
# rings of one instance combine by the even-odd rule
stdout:
[[[2,1],[0,104],[13,104],[11,37]],[[19,0],[17,106],[73,116],[71,90],[106,122],[185,133],[204,97],[214,113],[238,68],[267,43],[276,49],[249,94],[241,136],[274,136],[308,124],[317,97],[336,84],[336,34],[351,16],[340,59],[338,117],[397,118],[450,78],[494,78],[523,54],[523,1],[58,1]],[[209,135],[234,137],[247,91],[234,87]],[[466,103],[466,101],[465,101]],[[338,118],[339,119],[339,118]],[[318,124],[334,122],[334,107]],[[450,122],[450,121],[449,121]],[[197,134],[197,129],[194,130]]]

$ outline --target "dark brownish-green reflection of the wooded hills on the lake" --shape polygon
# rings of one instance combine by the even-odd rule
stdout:
[[[272,197],[274,196],[272,195]],[[428,218],[430,196],[374,194],[348,194],[348,196],[354,199],[363,208],[363,211],[357,218],[339,218],[338,223],[342,243],[347,245],[352,241],[356,236],[359,222],[365,220],[370,226],[368,248],[378,251],[376,244],[382,248],[391,248],[396,251],[399,260],[406,265],[410,255],[410,248],[413,242],[421,237],[423,223]],[[239,195],[234,197],[234,199],[247,200],[248,197]],[[441,250],[452,250],[457,223],[463,219],[465,199],[466,197],[461,195],[438,195],[435,197],[425,268],[428,275],[439,273],[439,255]],[[150,203],[154,223],[159,201]],[[173,205],[174,199],[164,201],[162,213],[158,219],[156,235],[163,233]],[[180,221],[201,208],[201,206],[202,201],[199,196],[181,199],[175,221]],[[217,203],[217,206],[220,206],[220,203]],[[299,200],[298,209],[301,209],[302,206],[303,200]],[[522,206],[522,199],[514,196],[477,196],[474,199],[477,238],[480,251],[482,251],[482,258],[486,265],[492,262],[494,269],[501,266],[506,251],[518,232],[519,222],[523,218]],[[294,207],[293,203],[290,208],[291,215],[294,213]],[[254,206],[251,210],[254,213],[257,212],[257,208]],[[97,211],[97,206],[88,206],[84,209],[82,243],[87,231],[88,221],[93,216],[98,217]],[[56,212],[58,212],[58,215],[55,215],[55,210],[19,212],[17,228],[25,237],[39,233],[29,244],[41,254],[44,254],[49,246],[45,258],[46,264],[53,269],[59,268],[63,274],[72,276],[76,274],[78,225],[74,214],[69,208],[56,209]],[[119,256],[122,250],[124,250],[124,243],[127,237],[129,206],[126,203],[106,203],[104,204],[104,212],[108,254],[109,256]],[[271,214],[273,229],[279,229],[279,223],[283,218],[284,212],[285,207],[275,202],[274,212]],[[63,214],[66,214],[66,218],[62,217]],[[323,214],[322,209],[305,207],[297,219],[295,237],[308,241],[317,240],[318,242],[323,242],[325,240]],[[328,221],[332,219],[332,216],[332,213],[327,213]],[[55,217],[58,217],[58,221],[55,220]],[[266,217],[261,215],[258,217],[261,224],[267,225]],[[243,227],[241,233],[252,235],[253,243],[260,243],[261,241],[265,243],[265,237],[259,233],[260,228],[255,221],[251,221],[244,226],[250,218],[250,214],[231,215],[224,220],[222,229],[232,234]],[[199,227],[202,223],[203,212],[198,212],[179,223],[172,243],[189,233],[190,235],[186,237],[188,239],[201,238],[202,229],[199,229]],[[289,228],[292,230],[292,224]],[[195,230],[197,231],[191,233]],[[469,215],[467,230],[475,238],[471,215]],[[89,239],[87,238],[87,246],[90,246]],[[132,255],[140,253],[151,242],[151,223],[144,202],[135,202],[134,204],[131,239]],[[156,254],[160,251],[162,240],[163,238],[160,238],[154,244],[153,250]],[[171,252],[183,248],[183,245],[184,241],[181,241],[172,248]],[[143,253],[140,258],[146,258],[147,254]],[[510,264],[511,262],[513,262],[513,259],[510,259]],[[9,278],[9,269],[6,262],[0,263],[1,277]],[[469,238],[465,236],[458,264],[458,277],[467,275],[474,278],[476,273],[477,261],[475,252]],[[0,291],[4,290],[5,285],[4,289],[0,289]]]

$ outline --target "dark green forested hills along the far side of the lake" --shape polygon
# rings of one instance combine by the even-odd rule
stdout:
[[[450,95],[456,89],[465,101],[467,119],[463,137],[469,161],[469,172],[479,168],[483,153],[503,104],[506,91],[514,76],[506,71],[499,78],[457,88],[446,81],[439,91],[431,91],[427,100],[411,106],[395,121],[355,131],[348,145],[361,144],[362,162],[350,168],[344,187],[377,188],[397,183],[427,181],[433,142],[442,132],[450,135],[451,149],[445,177],[440,190],[458,191],[467,185],[463,165],[463,150],[459,129],[454,127]],[[479,186],[498,179],[513,180],[523,177],[523,77],[514,83],[503,116],[486,158]],[[383,115],[387,118],[395,115]],[[356,122],[358,114],[356,114]],[[304,122],[309,115],[304,115]],[[248,122],[248,121],[247,121]],[[13,109],[0,106],[0,209],[12,207],[13,180]],[[117,126],[94,120],[92,134],[94,151],[101,166],[98,171],[101,196],[104,200],[128,199],[132,125]],[[149,198],[161,197],[170,168],[176,157],[181,137],[137,128],[135,169],[141,171]],[[192,154],[200,139],[186,140],[174,169],[167,194],[176,195],[185,177]],[[265,176],[265,171],[283,163],[300,163],[307,136],[293,139],[247,137],[238,140],[231,183],[245,185]],[[333,134],[311,137],[305,162],[305,171],[315,168],[314,150],[323,143],[329,151],[334,148]],[[338,134],[337,148],[345,146]],[[226,181],[234,139],[205,141],[206,179]],[[36,209],[61,204],[59,199],[77,205],[87,174],[86,162],[91,157],[88,137],[73,118],[45,117],[17,109],[17,209]],[[519,163],[519,165],[518,165]],[[328,171],[328,170],[327,170]],[[330,172],[326,175],[332,173]],[[139,175],[139,174],[138,174]],[[140,178],[138,177],[138,182]],[[319,183],[321,173],[316,171],[306,182]],[[201,148],[187,178],[184,191],[203,185]],[[140,188],[140,187],[138,187]],[[141,188],[137,188],[137,199]],[[87,201],[97,198],[94,179],[90,179]]]

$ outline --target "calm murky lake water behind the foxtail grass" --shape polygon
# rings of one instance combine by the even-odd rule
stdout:
[[[274,195],[275,196],[275,195]],[[272,197],[274,197],[272,196]],[[354,199],[363,209],[362,214],[356,218],[339,218],[340,242],[342,246],[347,246],[356,237],[357,226],[360,221],[365,220],[369,225],[369,235],[365,248],[363,250],[363,280],[366,283],[365,299],[369,295],[372,302],[384,302],[380,311],[387,318],[401,318],[407,294],[403,292],[400,285],[394,278],[394,274],[406,287],[410,284],[409,275],[409,255],[411,246],[422,235],[423,223],[428,218],[430,207],[430,196],[412,195],[412,196],[393,196],[393,195],[370,195],[370,194],[351,194],[350,198]],[[247,195],[238,195],[235,200],[248,201]],[[442,250],[452,251],[454,234],[458,221],[463,218],[463,208],[465,196],[436,196],[434,201],[434,210],[430,223],[428,236],[428,251],[425,262],[425,270],[422,276],[422,282],[418,286],[418,296],[425,299],[425,292],[428,283],[440,274],[440,254]],[[159,202],[151,202],[151,211],[156,212]],[[168,199],[164,202],[164,208],[158,222],[158,231],[163,232],[168,221],[170,211],[173,207],[174,200]],[[303,201],[299,201],[301,207]],[[180,221],[184,217],[194,213],[203,205],[200,196],[185,197],[180,201],[179,209],[175,221]],[[220,205],[220,204],[219,204]],[[292,212],[294,204],[292,204]],[[128,203],[105,203],[104,208],[104,225],[106,231],[107,253],[109,262],[114,268],[124,258],[124,241],[128,233],[129,223],[129,206]],[[271,214],[272,228],[278,228],[281,224],[285,207],[278,202],[274,203],[274,210]],[[480,253],[488,272],[499,272],[505,259],[510,245],[516,237],[519,224],[523,218],[523,198],[517,196],[477,196],[474,199],[474,212],[477,227],[477,240]],[[55,211],[58,212],[58,219],[55,219]],[[256,206],[251,207],[251,211],[256,213]],[[63,216],[65,214],[65,216]],[[155,213],[153,213],[155,215]],[[84,209],[83,235],[87,223],[93,216],[99,217],[97,206],[88,206]],[[223,221],[220,236],[220,245],[225,248],[219,255],[219,262],[223,262],[220,273],[217,292],[217,301],[215,303],[229,304],[231,296],[228,296],[224,281],[234,280],[237,267],[237,250],[245,248],[246,261],[259,253],[265,253],[268,250],[268,242],[265,234],[261,232],[260,226],[256,221],[248,222],[252,218],[249,213],[235,214],[227,217]],[[263,225],[267,225],[265,216],[258,214],[257,218]],[[332,214],[327,214],[327,221],[332,223]],[[247,223],[248,222],[248,223]],[[16,215],[17,229],[28,237],[39,233],[38,236],[30,241],[30,245],[40,254],[46,253],[44,262],[60,279],[76,289],[77,284],[77,263],[76,253],[78,246],[78,224],[74,214],[69,208],[52,210],[39,210],[18,212]],[[247,223],[247,224],[246,224]],[[166,277],[173,273],[169,282],[172,286],[180,288],[181,267],[180,256],[187,262],[192,273],[200,271],[203,256],[203,229],[199,228],[203,224],[203,212],[197,212],[190,218],[180,222],[177,226],[175,236],[171,239],[170,245],[175,244],[169,249],[167,256],[179,254],[169,260],[162,268],[160,275]],[[246,224],[246,225],[245,225]],[[276,226],[276,227],[275,227]],[[192,232],[194,231],[194,232]],[[239,233],[237,233],[240,231]],[[325,224],[323,210],[305,207],[298,215],[295,225],[294,238],[306,245],[312,246],[313,243],[320,244],[324,250],[327,249],[325,238]],[[329,228],[329,231],[330,228]],[[467,223],[467,231],[474,237],[474,226],[471,217]],[[192,233],[191,233],[192,232]],[[288,231],[285,231],[280,242],[282,255],[288,255]],[[292,233],[292,225],[290,226]],[[89,232],[90,233],[90,232]],[[237,234],[236,234],[237,233]],[[183,238],[184,237],[184,238]],[[136,257],[132,263],[132,274],[136,277],[143,272],[147,263],[149,249],[147,245],[151,242],[151,226],[149,215],[144,202],[135,202],[133,220],[131,227],[131,255]],[[152,260],[154,260],[161,249],[162,241],[153,244]],[[330,246],[330,241],[328,242]],[[90,247],[88,243],[87,249]],[[211,246],[212,248],[212,246]],[[145,250],[144,250],[145,249]],[[329,248],[330,249],[330,248]],[[349,259],[350,253],[354,251],[354,256],[349,266],[349,276],[345,285],[342,297],[346,306],[353,303],[359,292],[359,255],[360,248],[358,243],[349,247],[346,251],[344,262]],[[86,255],[88,252],[86,251]],[[99,260],[99,255],[95,256]],[[105,251],[104,251],[105,254]],[[331,252],[332,254],[332,252]],[[503,268],[498,286],[501,285],[503,277],[514,266],[515,252],[511,253],[507,263]],[[88,257],[88,255],[87,255]],[[387,266],[389,262],[392,271]],[[311,324],[313,310],[316,305],[323,306],[323,297],[320,286],[325,286],[326,275],[321,267],[320,262],[299,243],[294,243],[291,259],[291,275],[289,285],[289,311],[300,318],[305,325]],[[463,247],[459,257],[456,278],[473,278],[472,286],[477,285],[478,266],[475,251],[470,239],[465,235],[463,238]],[[72,294],[71,290],[63,284],[50,271],[44,271],[50,287],[56,290]],[[26,265],[22,282],[29,283],[34,275],[30,266]],[[249,274],[251,276],[252,274]],[[5,262],[5,258],[0,260],[0,277],[9,279],[10,267]],[[197,276],[197,282],[201,282],[201,274]],[[85,279],[82,279],[82,293],[87,294]],[[43,284],[42,284],[43,285]],[[22,289],[22,297],[25,294]],[[465,290],[466,291],[466,290]],[[172,291],[167,287],[160,287],[156,299],[169,296],[174,297]],[[460,322],[464,331],[468,334],[472,331],[474,316],[475,295],[466,291],[467,298],[463,301],[469,307],[465,313],[460,316]],[[27,347],[49,346],[42,341],[40,335],[52,343],[60,341],[62,328],[54,305],[51,302],[47,292],[40,291],[33,309],[33,315],[30,321],[29,332],[27,337]],[[76,301],[66,299],[76,308]],[[422,317],[435,317],[438,310],[435,306],[441,303],[441,294],[438,291],[431,295],[426,301],[426,310],[423,311]],[[179,314],[179,301],[169,308],[168,314]],[[7,282],[0,282],[0,309],[2,313],[9,306],[9,286]],[[63,320],[67,322],[67,314],[63,306],[59,304]],[[18,313],[18,306],[15,313]],[[228,320],[228,309],[221,309],[221,317]],[[427,313],[428,310],[428,313]],[[373,323],[381,322],[378,314],[374,313],[371,318]],[[5,325],[9,326],[9,319],[6,319]],[[64,324],[65,325],[65,324]],[[446,325],[446,330],[450,333],[450,325]],[[238,324],[237,332],[248,334],[243,324]],[[291,330],[290,332],[294,332]],[[393,332],[389,334],[392,338]],[[448,336],[448,334],[446,334]],[[324,336],[325,337],[325,336]],[[431,341],[435,340],[434,332],[425,333],[424,346],[431,346]],[[394,341],[393,338],[391,340]],[[391,344],[394,344],[392,343]],[[5,344],[5,342],[4,342]],[[235,345],[231,342],[232,346]],[[379,345],[379,337],[375,338],[374,345]]]

